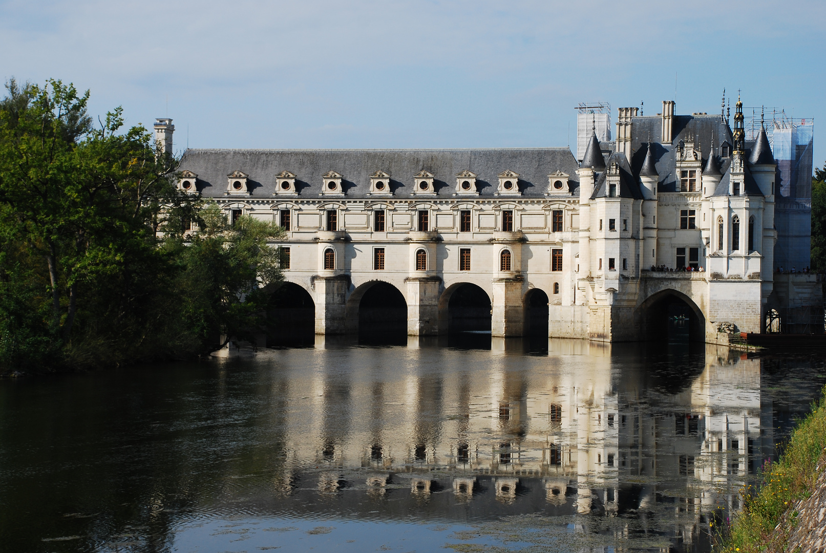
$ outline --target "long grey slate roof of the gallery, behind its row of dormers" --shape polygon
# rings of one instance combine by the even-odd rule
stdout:
[[[345,198],[367,198],[369,175],[390,173],[393,197],[411,197],[413,176],[422,170],[434,174],[435,197],[452,198],[456,174],[470,170],[477,174],[480,197],[492,197],[499,186],[498,174],[510,169],[519,173],[523,197],[544,197],[548,175],[562,171],[569,175],[572,196],[579,194],[577,160],[568,148],[502,149],[188,149],[180,168],[197,173],[197,190],[206,197],[225,196],[228,173],[249,175],[251,199],[275,198],[275,176],[282,171],[296,175],[298,198],[320,197],[321,176],[328,171],[343,175]],[[413,196],[415,198],[434,196]],[[458,197],[458,196],[457,196]],[[508,196],[501,196],[508,197]],[[512,197],[512,196],[510,196]]]

